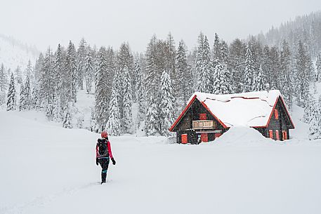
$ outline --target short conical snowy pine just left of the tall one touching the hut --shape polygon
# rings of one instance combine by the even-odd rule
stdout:
[[[145,119],[145,133],[147,136],[155,135],[159,131],[158,121],[157,104],[154,95],[151,93]]]

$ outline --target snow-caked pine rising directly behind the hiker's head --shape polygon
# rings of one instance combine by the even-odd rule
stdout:
[[[118,97],[117,85],[116,85],[116,80],[114,79],[114,81],[112,82],[112,96],[109,103],[110,116],[108,118],[106,128],[105,128],[108,134],[111,136],[119,136],[122,134],[117,97]]]

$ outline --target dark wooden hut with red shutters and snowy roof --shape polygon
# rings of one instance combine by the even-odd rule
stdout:
[[[194,93],[169,131],[178,143],[197,144],[219,138],[232,126],[255,128],[266,138],[289,139],[294,123],[280,91],[228,95]]]

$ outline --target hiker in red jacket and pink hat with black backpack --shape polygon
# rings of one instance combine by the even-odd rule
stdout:
[[[116,161],[114,161],[114,157],[112,156],[112,148],[110,147],[107,131],[103,131],[96,145],[96,165],[98,166],[99,163],[101,166],[101,184],[106,182],[110,159],[112,160],[112,165],[115,165]]]

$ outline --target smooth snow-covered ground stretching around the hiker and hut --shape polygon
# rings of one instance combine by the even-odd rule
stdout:
[[[41,112],[0,112],[0,213],[321,213],[321,141],[294,108],[291,140],[232,128],[215,142],[110,138],[100,185],[98,134]]]

